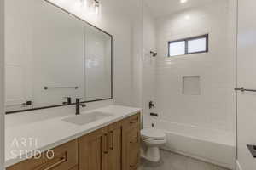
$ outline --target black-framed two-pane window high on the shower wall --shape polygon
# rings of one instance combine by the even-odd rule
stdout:
[[[208,43],[208,34],[171,41],[168,42],[168,56],[207,53]]]

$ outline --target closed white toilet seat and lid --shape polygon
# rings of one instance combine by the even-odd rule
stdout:
[[[155,128],[145,128],[141,131],[143,139],[166,140],[166,133]]]

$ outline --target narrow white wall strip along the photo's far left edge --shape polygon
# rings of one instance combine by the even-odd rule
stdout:
[[[4,112],[3,112],[3,0],[0,0],[0,169],[4,167]]]

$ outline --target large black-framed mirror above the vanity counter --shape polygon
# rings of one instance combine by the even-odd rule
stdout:
[[[113,99],[112,35],[46,0],[5,5],[7,114]]]

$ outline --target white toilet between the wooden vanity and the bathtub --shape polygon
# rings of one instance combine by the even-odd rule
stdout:
[[[145,128],[141,130],[143,142],[147,149],[142,156],[148,161],[160,161],[160,145],[166,144],[166,133],[155,128]]]

